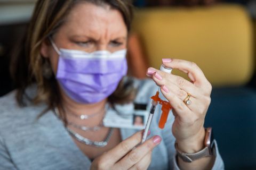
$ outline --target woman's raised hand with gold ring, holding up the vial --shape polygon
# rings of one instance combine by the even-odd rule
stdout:
[[[212,86],[199,67],[193,63],[177,59],[163,59],[163,64],[188,74],[191,81],[177,75],[149,68],[148,77],[153,78],[161,92],[172,106],[175,121],[172,133],[178,147],[183,152],[194,153],[204,147],[204,118],[211,103]],[[184,100],[190,95],[191,104]]]

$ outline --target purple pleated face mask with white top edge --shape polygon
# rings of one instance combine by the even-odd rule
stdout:
[[[66,94],[82,104],[93,104],[110,96],[127,73],[126,49],[114,53],[58,49],[56,78]]]

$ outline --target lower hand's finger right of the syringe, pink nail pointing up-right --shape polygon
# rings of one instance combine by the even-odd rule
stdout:
[[[114,166],[116,169],[129,169],[137,164],[143,157],[145,157],[151,150],[153,150],[160,142],[161,137],[155,136],[146,142],[142,143],[136,149],[133,149],[129,154],[122,158]]]

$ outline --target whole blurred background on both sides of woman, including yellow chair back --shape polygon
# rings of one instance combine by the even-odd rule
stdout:
[[[15,89],[9,63],[35,2],[0,0],[0,96]],[[134,5],[129,74],[145,78],[147,68],[158,68],[164,57],[196,62],[213,84],[205,126],[214,129],[226,169],[256,169],[256,1],[135,0]]]

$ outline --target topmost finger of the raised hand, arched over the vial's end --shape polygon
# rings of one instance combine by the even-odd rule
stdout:
[[[167,61],[166,59],[163,59],[163,64],[166,67],[178,69],[187,73],[189,79],[198,86],[204,86],[206,82],[207,84],[209,83],[209,81],[205,78],[203,71],[194,62],[179,59],[171,59]]]

